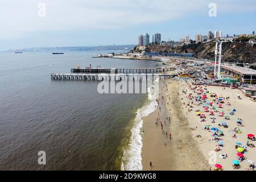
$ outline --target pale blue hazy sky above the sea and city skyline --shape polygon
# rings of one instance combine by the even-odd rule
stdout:
[[[255,0],[0,0],[0,51],[137,44],[146,32],[176,41],[251,34],[255,25]]]

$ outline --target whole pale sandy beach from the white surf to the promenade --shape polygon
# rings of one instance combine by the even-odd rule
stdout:
[[[214,164],[221,164],[222,169],[225,171],[234,170],[232,161],[238,160],[237,149],[235,148],[236,143],[240,142],[242,146],[246,146],[247,134],[256,133],[256,112],[253,111],[256,108],[255,102],[243,97],[240,90],[230,88],[225,88],[224,90],[218,86],[203,86],[203,89],[205,88],[209,91],[207,93],[207,102],[212,101],[210,93],[216,93],[218,97],[229,97],[229,100],[224,102],[223,108],[217,108],[217,110],[224,111],[225,115],[230,116],[230,120],[226,120],[225,117],[219,117],[218,113],[215,113],[214,117],[216,119],[212,123],[210,114],[204,112],[203,104],[197,106],[198,103],[195,100],[188,98],[189,94],[194,98],[197,95],[197,93],[189,89],[189,85],[191,85],[191,82],[185,82],[184,80],[160,82],[158,109],[143,118],[143,170],[209,171],[209,169],[214,169]],[[195,86],[193,85],[192,87]],[[241,100],[237,98],[238,93],[242,97]],[[228,102],[230,102],[230,106],[227,105]],[[234,115],[230,115],[229,111],[234,108],[237,111],[234,112]],[[192,110],[188,111],[188,109]],[[204,122],[201,122],[200,117],[196,115],[197,109],[200,109],[201,113],[205,114]],[[209,111],[212,111],[211,109],[209,108]],[[158,125],[156,125],[158,113],[159,121]],[[170,122],[168,120],[169,117],[171,118]],[[243,119],[244,126],[237,126],[238,118]],[[218,126],[224,121],[228,124],[228,128]],[[162,131],[161,122],[164,131]],[[214,140],[209,130],[205,130],[206,125],[210,125],[210,128],[218,127],[224,132],[224,136],[220,137],[224,146],[220,147],[221,150],[218,152],[214,152],[219,147],[218,142]],[[234,135],[232,130],[235,127],[240,127],[242,132],[241,134],[236,134],[236,139],[232,137]],[[171,140],[170,133],[172,135]],[[196,137],[197,135],[200,136]],[[226,154],[228,156],[226,159],[220,158],[220,155]],[[255,148],[247,147],[247,151],[244,154],[247,160],[240,161],[240,169],[235,170],[249,169],[250,164],[247,161],[253,160],[255,162],[255,154]],[[150,167],[150,162],[152,162],[152,167]]]

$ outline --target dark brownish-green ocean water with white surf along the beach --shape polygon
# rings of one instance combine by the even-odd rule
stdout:
[[[153,61],[93,59],[104,52],[0,53],[0,169],[141,169],[141,116],[148,94],[99,94],[96,81],[51,81],[80,67],[159,67]],[[38,152],[46,152],[46,165]]]

